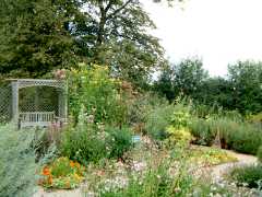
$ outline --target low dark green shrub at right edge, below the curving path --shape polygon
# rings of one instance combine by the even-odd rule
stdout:
[[[230,177],[239,185],[246,185],[251,188],[259,188],[259,182],[262,181],[262,165],[251,165],[236,167],[230,172]]]

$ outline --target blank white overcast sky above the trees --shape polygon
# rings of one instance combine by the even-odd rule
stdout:
[[[142,2],[171,62],[198,56],[211,76],[225,76],[228,63],[262,60],[262,0]]]

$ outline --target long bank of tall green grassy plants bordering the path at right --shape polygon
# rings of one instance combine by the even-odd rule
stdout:
[[[255,125],[229,117],[192,118],[190,130],[195,142],[211,146],[218,137],[222,148],[257,154],[262,144],[262,130]]]

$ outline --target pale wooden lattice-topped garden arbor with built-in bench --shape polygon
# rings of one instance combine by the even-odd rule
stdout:
[[[53,121],[67,121],[68,115],[68,86],[63,80],[44,79],[10,79],[12,89],[12,120],[19,128],[47,127]],[[58,90],[58,111],[22,111],[20,108],[20,91],[26,88],[48,86]],[[45,93],[44,93],[45,94]],[[38,97],[40,100],[41,97]]]

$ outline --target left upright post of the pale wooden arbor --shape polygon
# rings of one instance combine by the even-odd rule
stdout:
[[[19,82],[12,82],[12,120],[19,124]]]

